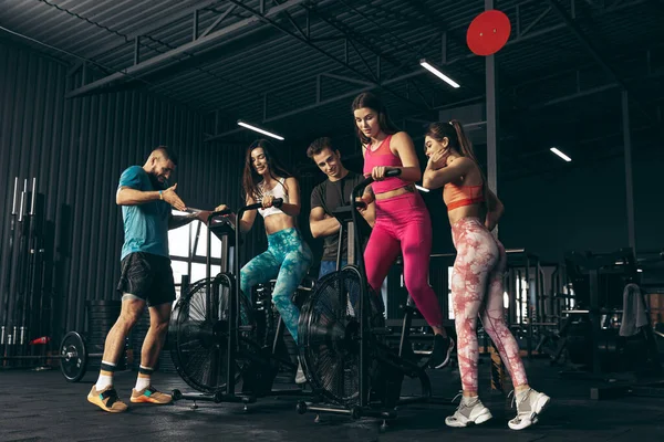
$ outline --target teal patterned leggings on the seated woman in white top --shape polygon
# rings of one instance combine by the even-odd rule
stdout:
[[[268,250],[249,261],[240,271],[240,288],[247,296],[256,284],[267,283],[277,276],[272,302],[294,341],[298,341],[300,311],[291,301],[302,278],[309,271],[313,255],[300,232],[283,229],[268,235]]]

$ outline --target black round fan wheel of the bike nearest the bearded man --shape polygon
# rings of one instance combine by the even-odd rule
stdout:
[[[231,281],[220,274],[210,280],[194,283],[176,303],[168,327],[170,356],[179,376],[194,389],[214,393],[226,387],[228,372],[228,313]],[[240,294],[240,325],[252,324],[249,302]],[[237,332],[240,335],[251,332]],[[241,347],[240,347],[241,348]],[[242,373],[237,359],[236,383]]]

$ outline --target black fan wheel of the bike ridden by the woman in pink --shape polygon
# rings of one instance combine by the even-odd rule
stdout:
[[[360,284],[355,267],[325,275],[302,307],[298,329],[313,389],[342,406],[360,398]]]

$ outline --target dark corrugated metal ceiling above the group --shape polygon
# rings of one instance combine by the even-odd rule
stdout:
[[[264,8],[270,10],[284,2],[268,0]],[[211,32],[255,18],[247,8],[259,10],[262,2],[245,0],[238,3],[229,0],[4,0],[0,23],[11,31],[75,55],[42,48],[72,65],[87,59],[113,73],[134,65],[133,39],[136,35],[142,35],[139,55],[141,61],[146,61],[193,41],[196,10],[197,35],[200,35],[222,14],[227,17]],[[573,12],[581,30],[604,49],[605,59],[618,64],[618,72],[625,77],[639,78],[642,71],[645,74],[646,67],[624,61],[635,53],[643,53],[645,59],[644,43],[645,46],[656,46],[662,41],[658,25],[662,10],[643,0],[605,3],[561,2],[569,13]],[[528,108],[573,94],[579,85],[593,87],[612,81],[589,56],[561,17],[551,10],[550,2],[504,0],[499,8],[510,17],[512,25],[510,42],[497,57],[500,90],[513,95],[507,99],[508,107],[519,105]],[[347,123],[352,96],[315,108],[312,106],[342,94],[352,95],[363,87],[360,83],[324,74],[371,81],[376,71],[375,53],[380,53],[381,81],[413,74],[407,80],[390,84],[392,93],[383,91],[395,109],[395,119],[430,115],[424,99],[429,107],[432,104],[437,107],[481,99],[484,95],[484,59],[473,55],[465,45],[467,27],[483,10],[483,0],[300,2],[288,9],[290,18],[272,15],[274,25],[255,21],[229,32],[214,48],[206,48],[209,51],[204,55],[188,57],[187,54],[194,55],[197,50],[188,51],[179,56],[188,61],[148,72],[141,76],[138,87],[146,87],[201,113],[219,110],[229,122],[240,117],[263,122],[274,129],[294,130],[305,137],[352,128],[352,124]],[[307,32],[309,23],[311,44],[298,39],[300,31],[291,20],[302,32]],[[446,31],[446,51],[443,50],[443,31]],[[345,42],[346,38],[351,44]],[[655,48],[652,54],[658,55],[656,51]],[[421,57],[444,65],[446,73],[463,87],[453,90],[426,73],[417,63]],[[662,60],[652,57],[649,63],[651,71],[656,71]],[[575,70],[582,71],[578,76],[579,84]],[[87,83],[110,73],[87,74]],[[317,101],[319,75],[323,76],[321,96]],[[79,75],[76,81],[81,80]],[[651,87],[661,91],[660,77],[651,76],[647,82]],[[594,101],[588,99],[588,109],[596,107]],[[263,102],[267,102],[267,110]],[[577,106],[583,107],[579,103]],[[298,113],[298,109],[309,110]],[[291,116],[281,118],[284,114]]]

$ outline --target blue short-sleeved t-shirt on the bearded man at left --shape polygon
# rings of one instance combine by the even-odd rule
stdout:
[[[127,168],[120,177],[121,187],[154,191],[149,176],[141,166]],[[168,257],[168,217],[170,204],[157,200],[137,206],[123,206],[125,242],[121,260],[133,252],[146,252]]]

